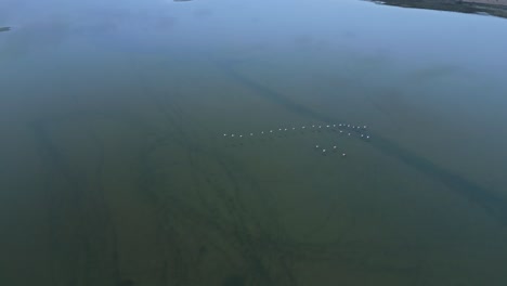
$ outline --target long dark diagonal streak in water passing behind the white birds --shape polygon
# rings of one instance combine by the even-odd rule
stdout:
[[[291,110],[292,113],[303,115],[309,119],[321,120],[327,123],[343,121],[342,118],[334,118],[312,110],[302,104],[291,101],[284,94],[243,76],[234,69],[235,62],[220,61],[216,62],[216,64],[225,75],[255,91],[257,95],[262,96],[271,102],[275,102],[278,105],[284,106],[286,109]],[[441,182],[456,194],[466,197],[471,204],[476,204],[481,207],[489,216],[495,218],[498,223],[507,225],[507,200],[497,195],[494,191],[484,188],[457,173],[445,170],[430,160],[403,148],[402,146],[386,138],[382,138],[380,134],[372,133],[372,136],[375,139],[372,141],[373,147],[379,150],[388,156],[403,161],[415,170],[432,178],[433,180]]]

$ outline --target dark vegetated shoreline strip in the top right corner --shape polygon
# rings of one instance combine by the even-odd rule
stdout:
[[[429,9],[429,10],[440,10],[440,11],[450,11],[450,12],[459,12],[467,14],[487,14],[491,16],[504,17],[507,18],[507,5],[503,3],[491,4],[483,3],[478,1],[463,1],[463,0],[366,0],[377,4],[384,5],[395,5],[403,8],[414,8],[414,9]]]

